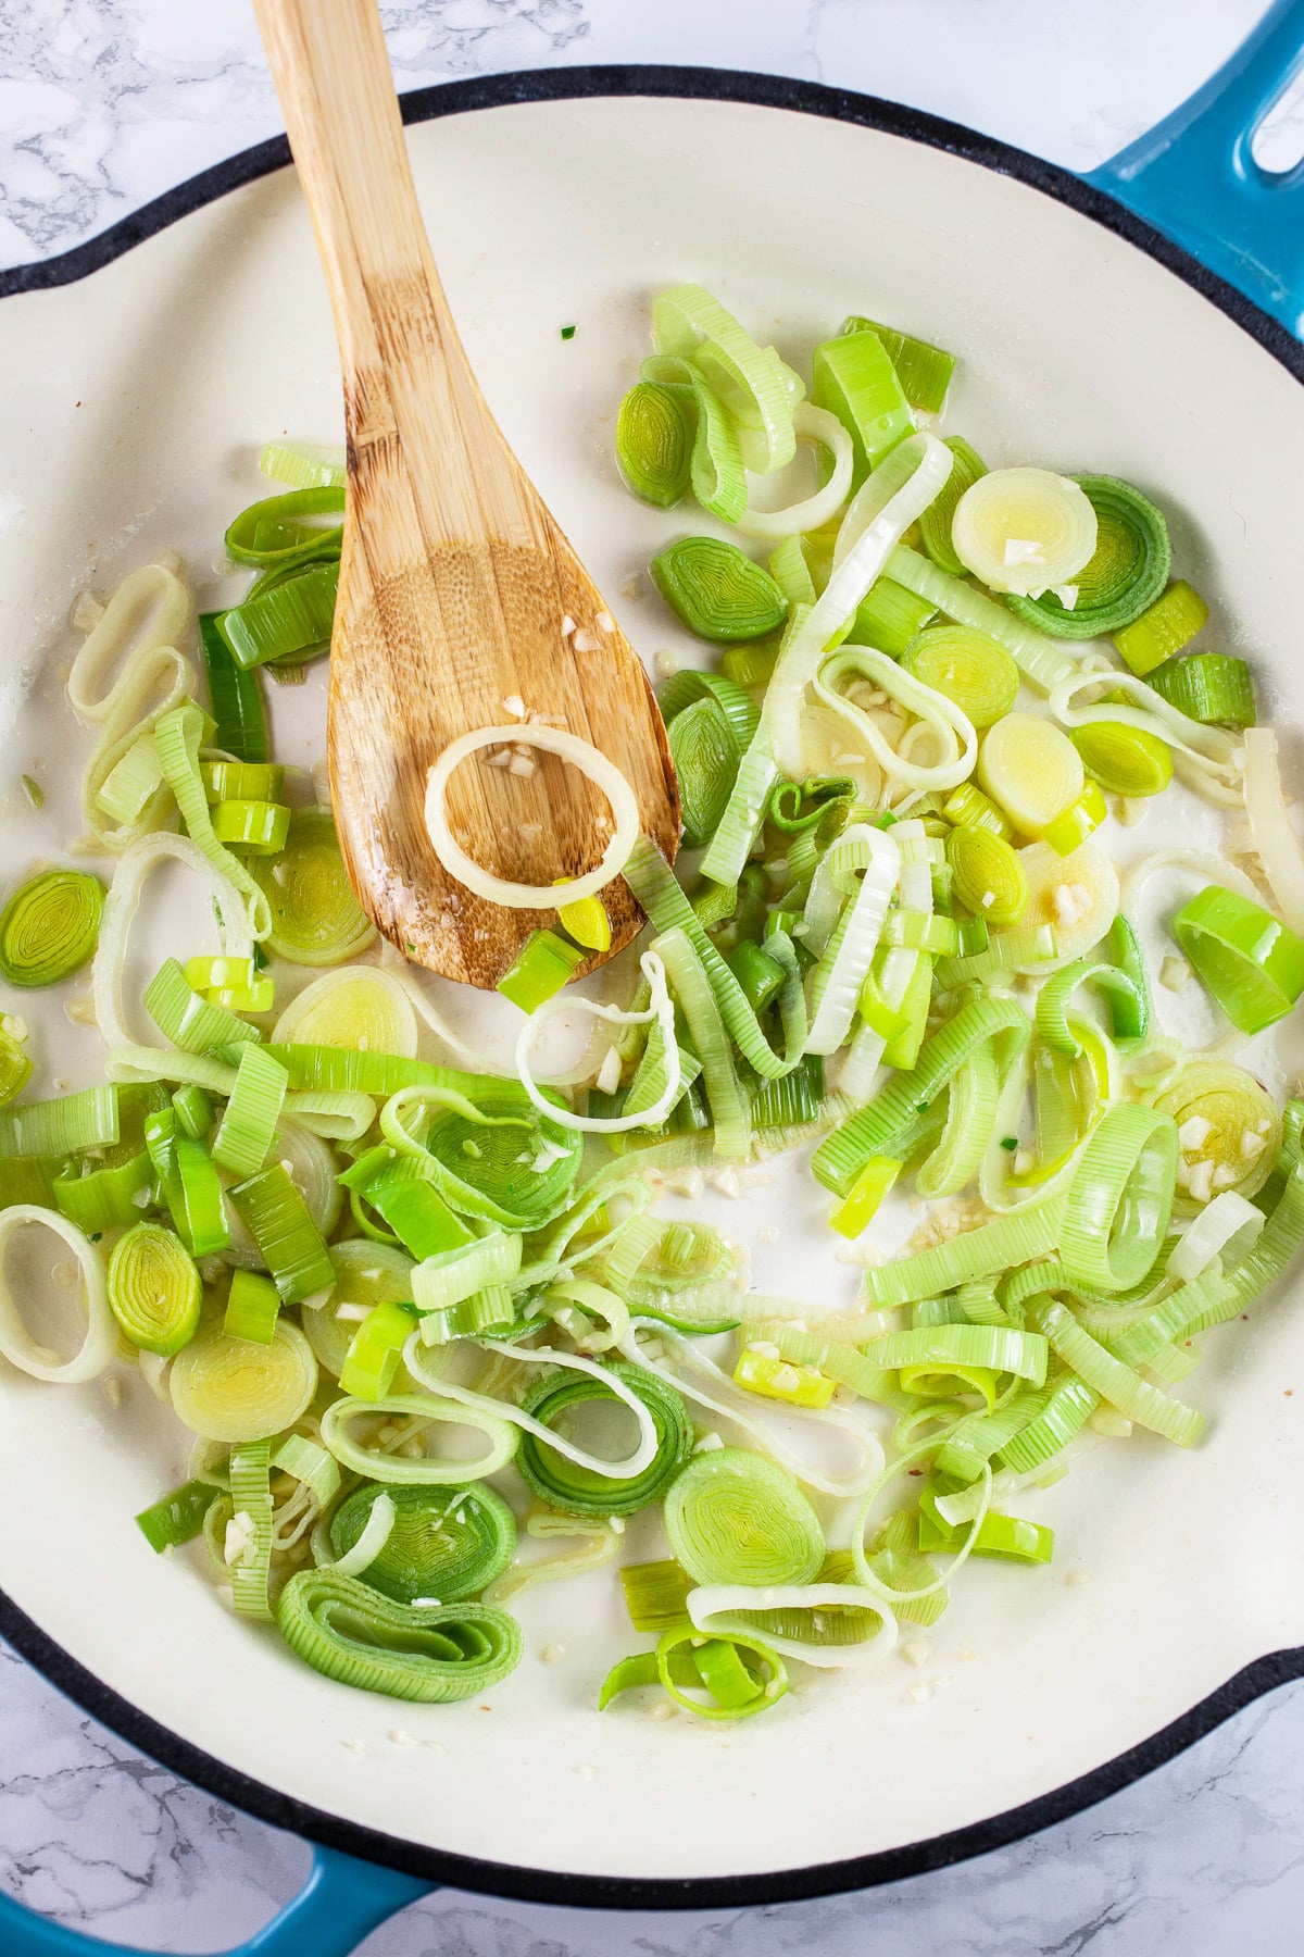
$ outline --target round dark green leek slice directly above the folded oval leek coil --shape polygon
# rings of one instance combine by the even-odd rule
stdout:
[[[336,1556],[354,1548],[381,1493],[393,1501],[393,1528],[362,1581],[395,1603],[475,1597],[516,1554],[516,1517],[497,1489],[473,1481],[469,1487],[379,1489],[371,1483],[354,1489],[330,1517]]]

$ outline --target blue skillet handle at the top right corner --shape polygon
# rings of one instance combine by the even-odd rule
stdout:
[[[1202,88],[1087,176],[1296,339],[1304,339],[1304,162],[1263,170],[1249,145],[1300,67],[1304,0],[1273,0]]]

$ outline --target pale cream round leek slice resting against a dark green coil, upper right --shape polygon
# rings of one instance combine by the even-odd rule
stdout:
[[[1038,597],[1085,569],[1097,548],[1097,513],[1067,476],[991,470],[956,503],[950,542],[991,591]]]

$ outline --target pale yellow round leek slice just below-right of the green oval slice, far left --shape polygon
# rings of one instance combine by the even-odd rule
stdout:
[[[205,1440],[266,1440],[293,1427],[317,1391],[317,1360],[297,1325],[280,1319],[270,1344],[207,1329],[168,1374],[172,1407]]]

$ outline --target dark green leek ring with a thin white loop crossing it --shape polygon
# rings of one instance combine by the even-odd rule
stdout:
[[[567,1515],[637,1515],[665,1495],[692,1452],[692,1421],[673,1386],[655,1372],[624,1360],[616,1360],[608,1370],[647,1407],[657,1431],[657,1454],[641,1474],[616,1479],[567,1460],[545,1440],[524,1433],[516,1456],[522,1478],[540,1501]],[[622,1405],[618,1395],[592,1374],[553,1374],[532,1386],[522,1407],[540,1425],[551,1427],[573,1407],[590,1401]]]

